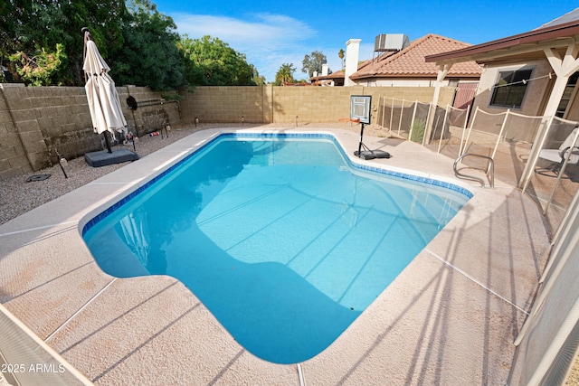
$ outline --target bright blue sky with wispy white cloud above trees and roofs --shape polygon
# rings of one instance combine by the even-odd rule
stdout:
[[[171,16],[177,32],[196,39],[210,35],[243,52],[267,81],[283,63],[293,63],[296,79],[306,54],[321,51],[331,71],[348,39],[361,39],[360,60],[371,59],[375,37],[404,33],[411,41],[428,33],[479,44],[526,33],[579,6],[570,0],[436,1],[380,0],[153,0]]]

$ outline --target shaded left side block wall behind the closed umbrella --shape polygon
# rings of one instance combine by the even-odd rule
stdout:
[[[159,92],[137,87],[117,91],[129,127],[138,127],[140,135],[147,130],[143,125],[147,114],[162,114],[168,124],[180,122],[176,103],[128,108],[128,96],[158,100]],[[57,152],[71,159],[100,150],[102,139],[93,131],[83,87],[0,85],[0,180],[54,165]]]

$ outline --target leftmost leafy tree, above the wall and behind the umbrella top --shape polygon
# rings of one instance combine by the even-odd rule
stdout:
[[[22,58],[39,58],[42,52],[54,54],[59,51],[55,51],[57,44],[61,44],[58,66],[50,69],[52,81],[54,84],[84,84],[81,28],[85,26],[90,28],[104,57],[123,45],[120,29],[128,15],[124,0],[12,0],[1,3],[0,64],[5,65],[16,80],[30,82],[20,75],[28,73]],[[51,66],[55,64],[55,61],[45,64],[49,62]],[[43,65],[41,61],[38,64]]]

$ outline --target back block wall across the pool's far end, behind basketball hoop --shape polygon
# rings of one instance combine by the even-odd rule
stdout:
[[[181,118],[195,122],[295,123],[337,122],[349,118],[350,97],[371,95],[373,118],[384,98],[432,101],[434,88],[417,87],[197,87],[182,90]],[[439,106],[452,103],[454,88],[441,89]]]

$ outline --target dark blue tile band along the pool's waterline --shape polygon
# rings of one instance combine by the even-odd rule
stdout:
[[[441,188],[446,188],[446,189],[449,189],[451,191],[463,194],[466,197],[468,197],[469,199],[472,198],[472,196],[473,196],[473,194],[468,189],[465,189],[465,188],[463,188],[459,185],[456,185],[456,184],[445,183],[443,181],[436,180],[434,178],[422,177],[420,175],[394,172],[392,170],[387,170],[387,169],[384,169],[383,167],[379,167],[379,166],[362,165],[362,164],[357,164],[355,162],[352,162],[350,157],[346,155],[344,148],[337,141],[337,138],[331,134],[327,134],[327,133],[222,133],[222,134],[214,137],[210,141],[207,141],[202,146],[199,146],[197,149],[195,149],[190,154],[185,155],[185,157],[182,160],[176,162],[176,164],[169,166],[166,170],[164,170],[160,174],[157,174],[150,181],[148,181],[147,184],[143,184],[142,186],[139,186],[136,190],[134,190],[131,193],[128,193],[128,195],[121,198],[118,202],[113,203],[111,206],[109,206],[109,208],[105,209],[104,211],[100,212],[98,215],[96,215],[95,217],[90,219],[90,221],[88,221],[82,227],[82,231],[81,231],[82,237],[84,237],[84,235],[87,233],[87,231],[89,231],[92,227],[94,227],[100,221],[107,218],[113,212],[119,210],[119,208],[121,208],[127,202],[131,201],[133,198],[137,197],[138,194],[147,190],[151,185],[156,184],[157,181],[159,181],[160,179],[165,177],[166,174],[171,173],[172,171],[174,171],[176,169],[176,167],[178,167],[179,165],[183,165],[185,162],[187,162],[189,159],[191,159],[191,157],[197,155],[197,153],[204,150],[207,146],[211,146],[212,144],[214,144],[215,141],[218,141],[218,140],[222,139],[223,137],[255,138],[255,139],[259,139],[259,138],[280,138],[280,139],[283,139],[283,138],[316,138],[316,139],[320,139],[321,138],[321,139],[329,139],[337,145],[337,148],[339,149],[339,151],[342,153],[342,155],[344,155],[344,158],[346,159],[347,164],[354,169],[363,170],[365,172],[370,172],[370,173],[375,173],[375,174],[384,174],[384,175],[388,175],[388,176],[392,176],[392,177],[402,178],[402,179],[409,180],[409,181],[414,181],[417,183],[431,184],[434,186],[439,186]]]

